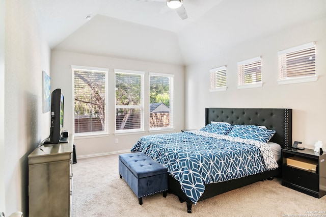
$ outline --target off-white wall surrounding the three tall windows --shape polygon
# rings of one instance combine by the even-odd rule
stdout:
[[[174,77],[174,127],[180,131],[184,127],[184,67],[177,65],[135,61],[103,56],[86,55],[60,50],[51,52],[51,89],[61,88],[65,95],[64,129],[73,132],[73,83],[71,65],[108,68],[108,128],[109,135],[92,138],[75,138],[76,153],[79,156],[95,156],[107,153],[117,153],[130,150],[137,140],[148,132],[149,117],[144,117],[144,134],[114,135],[115,130],[115,77],[114,69],[145,71],[144,83],[149,84],[148,72],[171,73]],[[146,88],[146,86],[145,86]],[[148,92],[148,89],[147,89]],[[149,99],[144,96],[145,106],[149,106]],[[145,111],[147,107],[144,108]],[[148,108],[149,112],[149,108]],[[172,132],[172,131],[170,131]],[[115,139],[119,143],[115,143]]]

